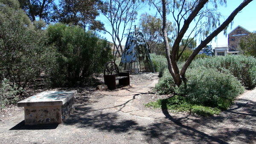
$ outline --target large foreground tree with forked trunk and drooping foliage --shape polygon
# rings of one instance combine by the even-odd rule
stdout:
[[[247,4],[253,0],[244,0],[228,17],[221,23],[220,13],[217,10],[218,5],[225,5],[226,0],[150,0],[158,13],[163,18],[163,37],[166,48],[166,58],[168,62],[168,69],[171,73],[175,84],[180,86],[183,82],[186,83],[185,73],[195,56],[221,31],[226,31],[227,26],[232,22],[236,14],[240,12]],[[172,45],[170,52],[168,34],[167,34],[167,17],[168,14],[172,15],[172,19],[177,23],[177,36]],[[189,32],[189,26],[194,27]],[[184,63],[181,70],[177,66],[179,59],[180,42],[184,35],[201,36],[201,43],[189,56],[188,60]],[[181,52],[182,54],[182,52]]]

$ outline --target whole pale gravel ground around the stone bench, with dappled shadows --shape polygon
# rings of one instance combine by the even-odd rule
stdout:
[[[143,106],[163,97],[150,90],[156,76],[131,75],[131,86],[113,91],[76,88],[79,92],[76,109],[63,124],[25,126],[23,109],[14,106],[3,110],[0,143],[256,143],[256,89],[241,95],[221,115],[203,118],[187,113],[172,114]],[[123,102],[137,110],[120,109]],[[160,114],[155,118],[132,115],[138,110]]]

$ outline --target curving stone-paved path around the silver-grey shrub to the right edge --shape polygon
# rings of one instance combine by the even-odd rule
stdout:
[[[198,137],[198,140],[196,139],[198,143],[201,143],[204,138],[204,143],[256,144],[256,89],[240,95],[227,111],[209,118],[171,114],[165,110],[152,112],[133,107],[134,99],[148,93],[157,84],[156,75],[150,75],[150,73],[148,75],[153,79],[151,84],[119,98],[114,107],[128,115],[162,119],[165,123],[174,122],[180,127],[192,131],[189,135],[194,138]],[[186,137],[180,136],[176,142],[183,141],[183,138]]]

